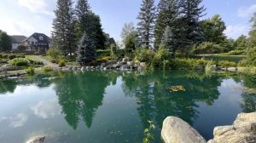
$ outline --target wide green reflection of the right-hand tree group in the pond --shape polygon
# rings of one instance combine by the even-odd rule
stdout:
[[[154,120],[159,127],[167,116],[177,116],[192,124],[198,112],[196,102],[212,105],[218,99],[218,77],[196,72],[154,72],[127,75],[122,85],[126,95],[137,98],[137,111],[147,127]],[[200,80],[199,80],[200,79]],[[185,92],[172,93],[169,87],[183,85]]]

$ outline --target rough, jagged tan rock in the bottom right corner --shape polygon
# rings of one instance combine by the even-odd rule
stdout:
[[[233,125],[216,127],[213,135],[208,143],[255,143],[256,112],[239,114]]]

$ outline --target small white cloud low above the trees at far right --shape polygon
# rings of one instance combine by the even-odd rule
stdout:
[[[224,31],[224,34],[227,37],[232,37],[236,39],[237,37],[240,37],[241,35],[247,35],[248,33],[248,27],[242,26],[242,25],[236,25],[236,26],[227,26],[227,29]]]

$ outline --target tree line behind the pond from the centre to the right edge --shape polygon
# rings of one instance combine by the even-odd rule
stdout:
[[[224,35],[224,20],[219,14],[201,20],[206,15],[202,0],[143,0],[137,16],[137,28],[126,23],[121,37],[126,51],[144,47],[165,48],[172,58],[179,51],[185,55],[225,53],[231,50],[247,50],[255,43],[255,19],[249,37],[241,35],[236,41]]]

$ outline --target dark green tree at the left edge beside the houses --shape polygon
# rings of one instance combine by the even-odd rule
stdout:
[[[12,40],[5,31],[0,30],[0,51],[10,51],[12,49]]]

